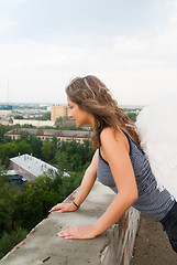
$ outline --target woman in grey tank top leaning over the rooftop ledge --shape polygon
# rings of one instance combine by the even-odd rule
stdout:
[[[167,190],[158,190],[147,157],[139,146],[133,123],[96,76],[73,80],[66,87],[66,93],[69,117],[78,127],[88,124],[93,129],[92,146],[96,152],[75,201],[59,203],[51,212],[76,211],[89,194],[97,178],[109,186],[115,197],[93,225],[67,229],[58,233],[58,236],[68,240],[93,239],[133,205],[163,223],[173,248],[177,252],[177,203]],[[174,212],[176,221],[172,218]],[[170,219],[174,223],[168,222]]]

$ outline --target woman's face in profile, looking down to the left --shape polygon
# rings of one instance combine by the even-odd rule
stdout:
[[[69,97],[67,97],[67,102],[69,106],[68,117],[75,120],[77,127],[90,125],[90,127],[93,128],[95,125],[93,115],[81,109],[76,103],[71,102]]]

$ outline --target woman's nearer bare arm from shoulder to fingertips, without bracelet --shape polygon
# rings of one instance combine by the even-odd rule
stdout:
[[[58,235],[65,239],[93,239],[110,227],[137,199],[137,187],[129,157],[126,141],[121,131],[111,128],[101,132],[101,151],[109,162],[119,193],[91,226],[68,229]]]

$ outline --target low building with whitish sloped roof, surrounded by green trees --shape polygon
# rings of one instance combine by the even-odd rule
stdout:
[[[10,158],[10,162],[11,168],[14,170],[14,174],[19,174],[23,180],[29,181],[34,180],[48,170],[57,171],[55,167],[27,153]]]

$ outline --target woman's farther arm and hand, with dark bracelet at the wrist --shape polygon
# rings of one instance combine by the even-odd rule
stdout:
[[[98,150],[95,152],[92,161],[85,172],[81,184],[79,187],[79,191],[75,199],[76,204],[79,206],[85,201],[89,192],[91,191],[92,186],[97,179],[97,165],[98,165]],[[55,206],[53,206],[49,212],[53,212],[56,210],[59,210],[58,211],[59,213],[73,212],[73,211],[76,211],[77,208],[73,203],[58,203]]]

